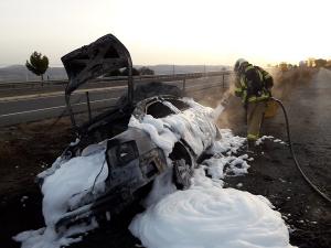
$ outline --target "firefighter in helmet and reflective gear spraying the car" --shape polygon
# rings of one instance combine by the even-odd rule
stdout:
[[[239,58],[234,66],[235,95],[242,98],[247,115],[247,144],[252,151],[259,138],[260,126],[271,97],[273,77],[258,66]]]

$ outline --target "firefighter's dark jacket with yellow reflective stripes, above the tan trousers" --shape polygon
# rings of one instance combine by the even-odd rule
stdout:
[[[246,64],[236,73],[235,95],[247,103],[266,100],[271,96],[274,85],[269,73],[258,66]]]

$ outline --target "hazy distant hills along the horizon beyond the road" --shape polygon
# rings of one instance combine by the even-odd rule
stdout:
[[[140,68],[146,65],[135,65]],[[223,68],[228,69],[228,66],[223,65],[148,65],[147,67],[154,71],[156,74],[175,74],[178,73],[203,73],[203,72],[220,72]],[[45,73],[44,79],[67,79],[64,67],[50,67]],[[24,65],[11,65],[0,67],[0,82],[25,82],[40,80],[40,77],[32,74]]]

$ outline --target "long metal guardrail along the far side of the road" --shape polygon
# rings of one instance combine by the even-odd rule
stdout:
[[[146,80],[181,80],[181,79],[193,79],[193,78],[201,78],[201,77],[212,77],[212,76],[222,76],[222,75],[229,75],[231,71],[224,72],[206,72],[206,73],[186,73],[186,74],[170,74],[170,75],[139,75],[134,76],[134,80],[146,82]],[[126,80],[127,76],[115,76],[115,77],[103,77],[90,80],[89,83],[110,83],[110,82],[121,82]],[[63,80],[44,80],[44,82],[11,82],[11,83],[0,83],[0,90],[1,89],[14,89],[14,88],[38,88],[38,87],[52,87],[52,86],[65,86],[68,83],[67,79]]]

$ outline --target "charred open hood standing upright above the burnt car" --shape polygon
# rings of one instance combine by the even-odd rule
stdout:
[[[61,60],[70,79],[65,89],[66,96],[89,79],[127,67],[129,72],[128,99],[131,99],[130,93],[134,87],[131,56],[126,46],[113,34],[107,34],[89,45],[74,50]]]

